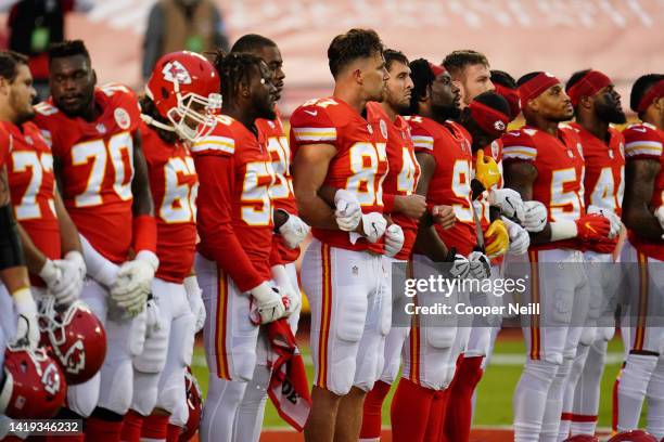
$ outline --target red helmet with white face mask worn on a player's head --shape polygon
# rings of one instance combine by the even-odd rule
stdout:
[[[144,116],[145,121],[193,142],[215,127],[214,115],[221,108],[219,91],[219,75],[203,55],[189,51],[166,54],[156,62],[145,93],[173,126]]]

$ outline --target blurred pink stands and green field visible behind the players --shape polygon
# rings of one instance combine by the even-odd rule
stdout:
[[[48,0],[44,0],[48,1]],[[142,88],[142,42],[150,9],[156,0],[88,0],[85,14],[66,15],[65,38],[86,41],[99,81]],[[634,79],[664,67],[664,0],[216,0],[226,34],[232,43],[247,32],[273,39],[280,47],[286,74],[280,108],[288,117],[301,103],[331,93],[327,64],[331,39],[350,27],[371,27],[384,43],[439,63],[455,49],[484,52],[493,68],[515,78],[532,70],[548,70],[562,79],[583,68],[610,75],[628,107]],[[14,1],[0,0],[0,11]],[[8,14],[0,14],[0,44],[7,46]],[[309,377],[308,323],[298,340]],[[611,425],[611,395],[622,362],[616,337],[609,347],[602,384],[600,427]],[[505,329],[496,354],[480,384],[473,440],[511,440],[512,391],[524,361],[521,333]],[[207,367],[201,346],[193,369],[203,390]],[[388,425],[390,401],[384,424]],[[265,426],[286,425],[268,404]],[[506,431],[500,431],[500,429]],[[291,433],[266,431],[263,441],[299,440]],[[390,439],[386,439],[390,440]]]

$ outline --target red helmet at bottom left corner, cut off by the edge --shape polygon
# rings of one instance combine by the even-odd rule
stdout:
[[[43,349],[8,348],[0,413],[14,419],[48,419],[64,404],[67,384]]]

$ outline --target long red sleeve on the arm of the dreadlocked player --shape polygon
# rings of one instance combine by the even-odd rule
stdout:
[[[200,181],[196,221],[203,255],[216,261],[240,290],[247,291],[263,283],[263,277],[232,227],[233,159],[230,156],[197,156],[195,166]]]

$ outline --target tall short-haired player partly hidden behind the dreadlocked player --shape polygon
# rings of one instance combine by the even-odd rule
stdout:
[[[283,61],[277,43],[269,38],[256,34],[247,34],[235,41],[231,52],[253,54],[265,62],[272,73],[274,102],[277,103],[281,99],[283,80],[285,78],[282,69]],[[272,158],[272,170],[276,181],[270,186],[270,199],[274,210],[289,214],[288,221],[279,227],[279,234],[272,235],[270,270],[274,284],[280,289],[286,291],[289,299],[292,300],[293,304],[289,307],[291,314],[288,321],[293,334],[295,334],[297,332],[299,308],[302,306],[295,261],[299,257],[299,243],[305,239],[309,227],[297,217],[297,203],[293,193],[293,177],[291,176],[292,152],[278,108],[276,108],[276,114],[277,118],[274,119],[256,119],[256,129],[258,130],[259,143],[265,146]],[[255,440],[260,432],[267,398],[267,389],[264,388],[264,384],[266,384],[269,377],[269,369],[266,367],[266,363],[267,361],[258,361],[257,372],[254,374],[254,378],[250,382],[238,410],[238,432],[235,437],[239,440]],[[265,369],[258,373],[260,366],[264,366]]]

